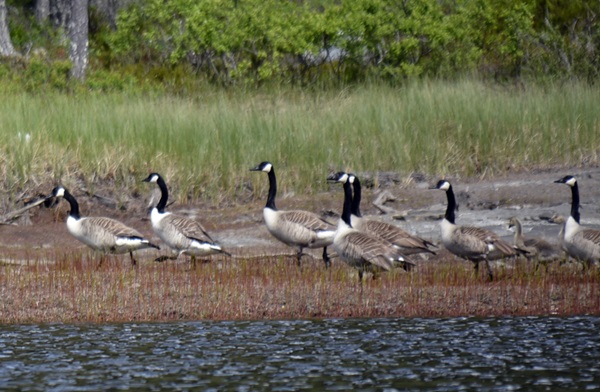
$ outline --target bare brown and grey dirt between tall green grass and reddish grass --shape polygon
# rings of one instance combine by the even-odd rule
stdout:
[[[598,167],[533,170],[484,180],[448,178],[460,206],[457,223],[484,226],[511,239],[512,232],[507,228],[507,220],[517,216],[523,223],[526,236],[541,236],[556,242],[560,227],[548,219],[554,214],[568,216],[571,193],[568,186],[553,181],[567,174],[575,175],[579,182],[581,223],[600,227]],[[367,185],[363,190],[363,215],[393,222],[409,232],[439,242],[438,223],[446,208],[446,198],[443,192],[429,189],[438,178],[395,173],[358,175]],[[285,173],[280,173],[280,176],[279,181],[285,181]],[[382,196],[383,192],[386,193]],[[72,190],[72,193],[78,198],[82,215],[119,219],[160,243],[152,233],[146,212],[150,195],[148,198],[132,200],[127,210],[122,211],[110,206],[101,197],[89,197],[79,190]],[[98,195],[103,196],[101,189],[97,190]],[[391,199],[387,200],[385,195],[391,196]],[[382,200],[387,200],[382,203],[386,213],[373,204],[380,196]],[[255,202],[222,209],[201,204],[174,204],[169,209],[197,218],[213,238],[234,256],[295,253],[294,249],[279,243],[267,232],[262,220],[265,200],[266,193]],[[342,207],[342,190],[338,184],[332,184],[327,192],[316,196],[280,194],[277,204],[280,209],[306,209],[321,213],[328,220],[336,222]],[[14,209],[20,207],[15,206]],[[51,260],[51,255],[56,252],[85,250],[85,246],[67,231],[65,219],[68,209],[68,203],[64,201],[53,208],[41,205],[32,208],[12,224],[0,225],[0,259],[4,262]],[[309,250],[309,253],[320,258],[320,250]],[[443,255],[444,252],[440,252],[440,256],[434,257]],[[150,250],[146,254],[140,253],[138,260],[151,262],[154,257],[156,251]]]

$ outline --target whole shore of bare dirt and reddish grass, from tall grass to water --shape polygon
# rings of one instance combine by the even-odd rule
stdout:
[[[555,240],[559,227],[543,216],[568,214],[568,189],[551,183],[563,173],[580,178],[582,223],[600,226],[597,168],[453,180],[461,204],[457,221],[483,225],[512,240],[506,220],[517,215],[525,235]],[[445,195],[426,189],[429,182],[367,188],[362,209],[365,215],[438,243]],[[382,191],[394,197],[384,203],[387,214],[371,203]],[[144,200],[127,211],[102,209],[93,198],[82,201],[85,216],[89,211],[105,212],[152,236]],[[598,266],[584,269],[573,261],[555,262],[546,270],[531,262],[506,261],[492,265],[496,280],[488,282],[483,274],[473,276],[471,262],[443,249],[430,258],[415,258],[417,269],[412,273],[393,271],[376,280],[367,276],[361,293],[356,271],[337,259],[325,270],[320,249],[308,250],[312,257],[304,257],[299,269],[295,250],[266,231],[263,204],[261,197],[223,209],[173,206],[173,211],[197,217],[235,256],[212,256],[196,270],[185,257],[155,263],[157,252],[150,250],[137,253],[135,270],[128,255],[109,256],[97,269],[98,256],[66,230],[67,203],[54,209],[36,207],[31,225],[0,226],[0,320],[21,324],[600,315]],[[305,208],[332,220],[341,204],[342,192],[336,186],[317,196],[278,198],[282,209]]]

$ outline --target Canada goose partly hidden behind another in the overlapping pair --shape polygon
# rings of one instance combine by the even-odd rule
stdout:
[[[360,213],[360,201],[362,197],[360,180],[355,174],[350,173],[348,176],[349,181],[354,189],[351,210],[351,221],[353,228],[358,231],[364,231],[366,233],[383,238],[397,247],[405,256],[425,252],[435,254],[434,251],[429,249],[430,246],[434,246],[431,242],[411,235],[398,226],[394,226],[386,222],[363,218],[362,214]]]

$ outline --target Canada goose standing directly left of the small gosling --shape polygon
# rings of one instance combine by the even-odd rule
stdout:
[[[446,191],[448,207],[440,224],[442,243],[451,253],[470,260],[475,264],[475,273],[479,263],[485,262],[490,280],[494,279],[489,260],[517,256],[517,250],[493,231],[481,227],[457,226],[455,223],[456,199],[452,185],[446,180],[438,181],[433,189]]]

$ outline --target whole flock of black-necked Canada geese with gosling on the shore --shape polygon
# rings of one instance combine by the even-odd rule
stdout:
[[[337,225],[319,215],[304,210],[279,210],[275,205],[277,179],[270,162],[262,162],[251,171],[262,171],[268,175],[269,192],[263,209],[263,217],[268,231],[284,244],[297,249],[297,262],[304,255],[305,248],[323,248],[323,261],[328,267],[331,257],[328,247],[332,247],[338,257],[358,270],[359,281],[364,273],[374,276],[380,272],[402,268],[410,271],[415,254],[436,254],[436,246],[423,238],[412,235],[401,228],[377,220],[364,218],[360,213],[361,185],[359,178],[346,172],[337,172],[327,177],[329,182],[343,186],[344,198],[342,215]],[[156,183],[161,192],[158,204],[150,212],[154,233],[175,256],[161,256],[156,261],[177,259],[180,255],[196,257],[212,254],[231,256],[194,219],[166,211],[169,192],[165,180],[158,173],[151,173],[143,180]],[[553,245],[542,239],[523,238],[521,224],[517,218],[509,222],[515,229],[514,243],[510,244],[491,230],[482,227],[459,226],[456,224],[457,204],[452,185],[440,180],[432,189],[446,193],[447,208],[441,221],[441,243],[454,255],[473,262],[475,271],[481,262],[485,263],[490,280],[493,279],[489,261],[524,256],[538,260],[556,258],[562,251],[586,265],[600,261],[600,230],[586,228],[579,223],[579,189],[573,176],[566,176],[556,183],[571,188],[571,213],[561,231],[561,245]],[[129,253],[135,266],[133,252],[140,249],[160,246],[152,243],[137,230],[106,217],[82,217],[77,200],[62,186],[54,188],[50,198],[64,198],[70,204],[67,218],[68,231],[79,241],[102,253]],[[102,263],[103,258],[100,263]]]

